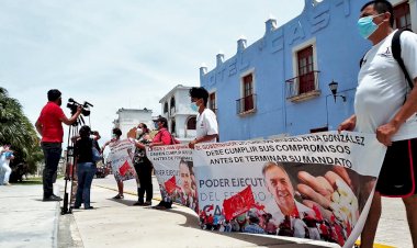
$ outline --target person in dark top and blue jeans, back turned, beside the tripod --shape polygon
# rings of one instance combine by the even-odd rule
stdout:
[[[78,187],[74,208],[80,208],[81,203],[84,210],[93,208],[90,205],[90,191],[92,179],[94,178],[97,166],[92,159],[92,147],[100,150],[99,145],[90,137],[91,129],[89,126],[81,126],[80,138],[75,144],[74,156],[77,159],[77,178]]]

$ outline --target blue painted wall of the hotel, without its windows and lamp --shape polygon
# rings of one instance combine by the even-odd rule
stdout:
[[[324,126],[335,129],[350,116],[359,59],[371,46],[356,26],[367,1],[324,0],[313,5],[306,0],[295,19],[279,27],[271,27],[275,21],[268,20],[263,37],[248,47],[240,40],[235,56],[226,61],[217,58],[216,68],[208,72],[201,68],[201,86],[216,92],[221,140],[297,135]],[[302,102],[289,101],[285,80],[297,76],[293,49],[314,38],[320,94]],[[248,71],[253,72],[257,109],[241,116],[236,113],[236,100],[241,98],[241,77]],[[338,98],[335,103],[328,88],[331,80],[339,83],[338,92],[346,102]]]

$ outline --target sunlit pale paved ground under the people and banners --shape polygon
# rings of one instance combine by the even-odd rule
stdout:
[[[64,189],[64,181],[57,184],[56,191]],[[187,207],[174,205],[170,211],[156,211],[132,206],[136,201],[134,180],[125,182],[122,201],[112,200],[115,189],[111,176],[94,179],[91,195],[94,210],[60,215],[56,202],[41,201],[42,185],[0,187],[0,247],[338,247],[284,237],[202,230],[195,213]],[[159,198],[157,189],[155,192]],[[376,241],[385,245],[377,247],[412,247],[401,200],[384,199]]]

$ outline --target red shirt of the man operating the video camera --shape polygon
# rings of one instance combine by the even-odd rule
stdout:
[[[60,119],[64,116],[64,111],[58,104],[46,103],[37,119],[42,124],[42,142],[63,143],[64,128]]]

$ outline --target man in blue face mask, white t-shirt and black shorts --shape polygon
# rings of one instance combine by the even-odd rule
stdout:
[[[372,247],[381,216],[381,195],[402,198],[414,247],[417,247],[417,196],[415,187],[396,193],[407,184],[415,185],[417,167],[417,87],[410,89],[392,53],[393,7],[388,1],[365,3],[358,21],[359,33],[372,43],[358,76],[354,115],[338,131],[375,133],[387,146],[371,210],[361,234],[361,247]],[[417,82],[417,35],[403,32],[401,56],[415,84]],[[394,168],[394,169],[393,169]],[[402,170],[402,168],[404,168]]]

